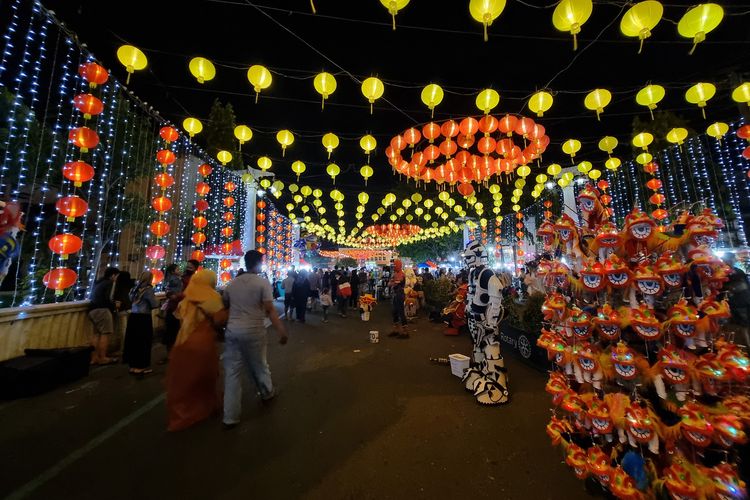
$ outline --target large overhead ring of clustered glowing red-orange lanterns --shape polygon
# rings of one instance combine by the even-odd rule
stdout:
[[[419,148],[422,139],[427,142]],[[479,120],[466,117],[460,122],[430,122],[421,131],[409,128],[391,139],[385,153],[400,174],[425,183],[459,183],[459,190],[468,192],[472,182],[511,174],[518,166],[538,159],[549,142],[544,127],[531,118],[487,114]],[[408,158],[407,147],[411,150]]]

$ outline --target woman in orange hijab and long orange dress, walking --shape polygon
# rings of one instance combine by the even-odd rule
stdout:
[[[167,369],[169,431],[190,427],[221,408],[216,332],[227,311],[215,288],[216,273],[199,270],[175,312],[181,326]]]

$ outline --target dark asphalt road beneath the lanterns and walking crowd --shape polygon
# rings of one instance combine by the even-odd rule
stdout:
[[[418,319],[389,338],[387,303],[370,322],[287,322],[269,350],[270,406],[245,391],[243,421],[167,433],[164,366],[143,380],[123,365],[0,402],[0,496],[57,499],[575,499],[583,484],[544,432],[546,377],[508,359],[512,401],[482,407],[445,365],[468,354]],[[380,343],[368,342],[371,329]],[[270,332],[271,339],[275,333]],[[159,359],[161,347],[156,347]]]

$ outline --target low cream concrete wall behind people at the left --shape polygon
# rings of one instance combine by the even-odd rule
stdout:
[[[163,295],[163,294],[162,294]],[[158,295],[157,295],[158,297]],[[87,300],[0,309],[0,361],[23,356],[24,349],[77,347],[91,343],[93,325]],[[153,312],[154,330],[161,328],[159,310]],[[115,325],[111,347],[119,345]]]

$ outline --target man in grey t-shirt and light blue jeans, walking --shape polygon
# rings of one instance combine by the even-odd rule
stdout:
[[[225,429],[236,427],[240,421],[243,368],[250,373],[264,403],[271,401],[276,395],[266,360],[266,317],[279,334],[281,345],[286,344],[287,335],[273,305],[271,284],[258,275],[262,264],[262,253],[257,250],[248,251],[245,254],[247,272],[232,280],[222,296],[224,305],[229,309],[229,321],[224,335]]]

